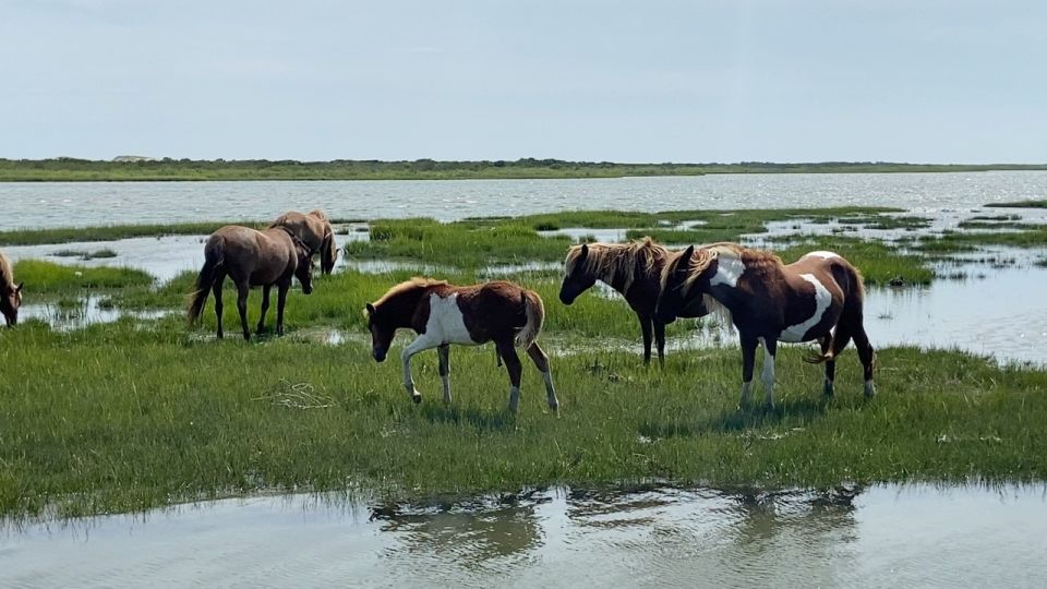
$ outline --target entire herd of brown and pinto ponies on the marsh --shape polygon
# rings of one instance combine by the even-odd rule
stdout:
[[[204,245],[204,265],[190,297],[189,320],[195,323],[214,294],[217,336],[222,337],[222,283],[237,287],[237,311],[243,338],[251,338],[246,302],[252,287],[262,288],[262,313],[256,332],[265,328],[269,293],[277,288],[276,332],[284,334],[284,308],[291,279],[302,292],[312,292],[313,256],[330,274],[338,249],[330,221],[321,211],[288,212],[268,228],[226,226]],[[765,405],[774,404],[774,358],[778,342],[818,341],[821,352],[806,360],[825,364],[826,395],[833,394],[835,358],[854,340],[865,377],[865,395],[871,397],[875,353],[863,322],[862,274],[832,252],[810,252],[792,264],[773,253],[721,242],[670,250],[650,238],[628,243],[573,245],[564,261],[559,300],[569,305],[602,281],[619,292],[636,313],[643,334],[643,361],[651,360],[652,339],[659,361],[664,361],[665,325],[677,317],[717,313],[735,327],[742,347],[742,405],[750,404],[756,352],[765,352]],[[15,284],[10,261],[0,252],[0,313],[8,326],[17,323],[22,284]],[[521,348],[542,374],[549,407],[559,400],[553,385],[549,357],[538,344],[545,317],[537,292],[507,280],[455,286],[445,280],[412,278],[393,286],[377,301],[365,305],[372,356],[385,360],[397,329],[412,329],[417,337],[400,351],[404,386],[414,402],[421,394],[411,376],[411,358],[436,348],[444,400],[450,401],[449,347],[493,341],[500,363],[509,375],[509,410],[517,411],[522,365]]]

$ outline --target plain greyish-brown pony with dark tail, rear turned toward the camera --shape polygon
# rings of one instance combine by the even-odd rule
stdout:
[[[221,330],[221,284],[226,276],[237,285],[237,310],[243,338],[251,339],[248,329],[248,293],[251,287],[262,287],[262,315],[258,334],[265,327],[269,310],[269,290],[277,287],[276,333],[284,335],[284,305],[291,277],[302,284],[302,292],[313,291],[313,262],[309,247],[290,229],[270,227],[256,231],[238,225],[227,225],[212,233],[204,245],[204,267],[196,277],[195,291],[190,296],[189,322],[195,323],[207,303],[207,293],[215,293],[215,316],[218,317],[218,338]]]

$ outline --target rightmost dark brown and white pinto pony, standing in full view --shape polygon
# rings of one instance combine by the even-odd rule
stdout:
[[[854,339],[865,369],[865,395],[872,384],[875,353],[863,325],[862,274],[832,252],[810,252],[785,265],[770,252],[736,243],[694,245],[674,254],[662,271],[655,315],[665,323],[695,301],[723,311],[742,342],[742,404],[749,402],[756,348],[763,345],[763,394],[774,405],[774,354],[779,341],[821,344],[808,362],[826,364],[825,393],[832,395],[835,357]]]

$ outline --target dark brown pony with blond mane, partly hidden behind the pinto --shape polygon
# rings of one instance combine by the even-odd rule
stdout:
[[[665,323],[654,315],[661,290],[662,267],[672,252],[643,238],[628,243],[582,243],[571,245],[564,260],[564,281],[559,300],[571,304],[597,280],[625,297],[640,320],[643,334],[643,363],[651,361],[651,335],[658,347],[658,360],[665,362]],[[698,317],[700,310],[682,309],[678,316]]]

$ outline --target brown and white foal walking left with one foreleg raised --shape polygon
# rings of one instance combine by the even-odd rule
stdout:
[[[520,402],[522,366],[516,346],[527,350],[542,373],[550,409],[555,411],[559,407],[549,357],[537,341],[545,308],[533,290],[504,280],[459,287],[445,280],[412,278],[394,286],[374,303],[368,303],[366,315],[372,356],[378,362],[385,360],[397,329],[411,328],[418,334],[400,352],[404,387],[414,402],[421,402],[422,395],[411,377],[412,356],[437,348],[444,402],[450,402],[450,345],[478,346],[494,341],[509,373],[509,410],[515,413]]]

